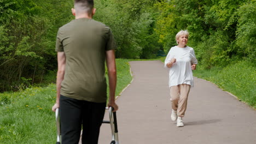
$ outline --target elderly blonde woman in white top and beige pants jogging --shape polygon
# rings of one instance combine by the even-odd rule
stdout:
[[[189,32],[180,31],[176,35],[177,46],[168,52],[165,67],[169,69],[169,87],[172,103],[172,121],[177,119],[177,127],[183,127],[182,118],[187,109],[190,87],[194,86],[192,70],[196,69],[197,59],[192,47],[187,46]]]

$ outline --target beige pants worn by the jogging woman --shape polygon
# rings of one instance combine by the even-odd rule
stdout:
[[[185,115],[189,91],[190,85],[187,84],[171,86],[170,88],[170,100],[172,101],[172,109],[177,110],[178,117],[184,117]]]

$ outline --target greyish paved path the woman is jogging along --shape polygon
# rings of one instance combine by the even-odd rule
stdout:
[[[256,111],[197,78],[189,94],[185,126],[177,128],[170,118],[168,73],[162,62],[130,65],[134,79],[117,100],[120,144],[256,143]],[[110,139],[110,126],[103,124],[99,144]]]

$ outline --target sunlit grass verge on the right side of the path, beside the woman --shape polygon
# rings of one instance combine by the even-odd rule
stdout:
[[[160,60],[164,62],[165,57]],[[213,67],[210,70],[201,69],[199,63],[193,75],[215,83],[219,88],[256,108],[256,67],[252,62],[233,62],[225,68]]]

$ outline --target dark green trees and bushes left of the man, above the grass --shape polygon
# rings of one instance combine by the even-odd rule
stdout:
[[[56,68],[57,28],[72,17],[66,0],[0,0],[0,92],[39,82]]]

